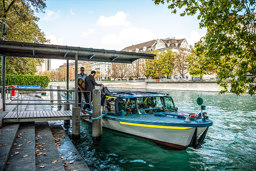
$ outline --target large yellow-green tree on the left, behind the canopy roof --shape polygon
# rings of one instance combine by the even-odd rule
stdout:
[[[39,29],[39,18],[34,15],[43,11],[46,7],[44,0],[2,0],[0,1],[0,19],[6,22],[7,35],[5,39],[10,41],[45,43],[49,42],[44,33]],[[34,74],[36,66],[42,64],[43,59],[7,57],[7,74]]]

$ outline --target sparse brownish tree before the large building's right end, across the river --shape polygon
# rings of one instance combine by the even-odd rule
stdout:
[[[188,51],[184,49],[180,49],[178,53],[175,54],[175,59],[174,59],[174,66],[175,70],[182,75],[182,78],[184,78],[184,75],[188,73]]]

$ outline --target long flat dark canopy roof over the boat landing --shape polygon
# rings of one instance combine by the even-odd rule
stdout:
[[[154,59],[156,56],[136,52],[0,40],[0,56],[75,60],[75,54],[78,54],[80,61],[115,63],[132,63],[140,58]]]

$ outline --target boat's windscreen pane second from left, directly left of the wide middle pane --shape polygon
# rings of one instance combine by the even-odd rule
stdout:
[[[124,110],[125,115],[137,115],[135,98],[120,98],[118,101],[118,111]]]

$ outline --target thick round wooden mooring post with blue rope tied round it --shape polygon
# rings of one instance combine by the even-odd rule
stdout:
[[[93,117],[101,115],[101,90],[93,90]],[[102,118],[93,120],[93,140],[99,140],[102,137]]]

